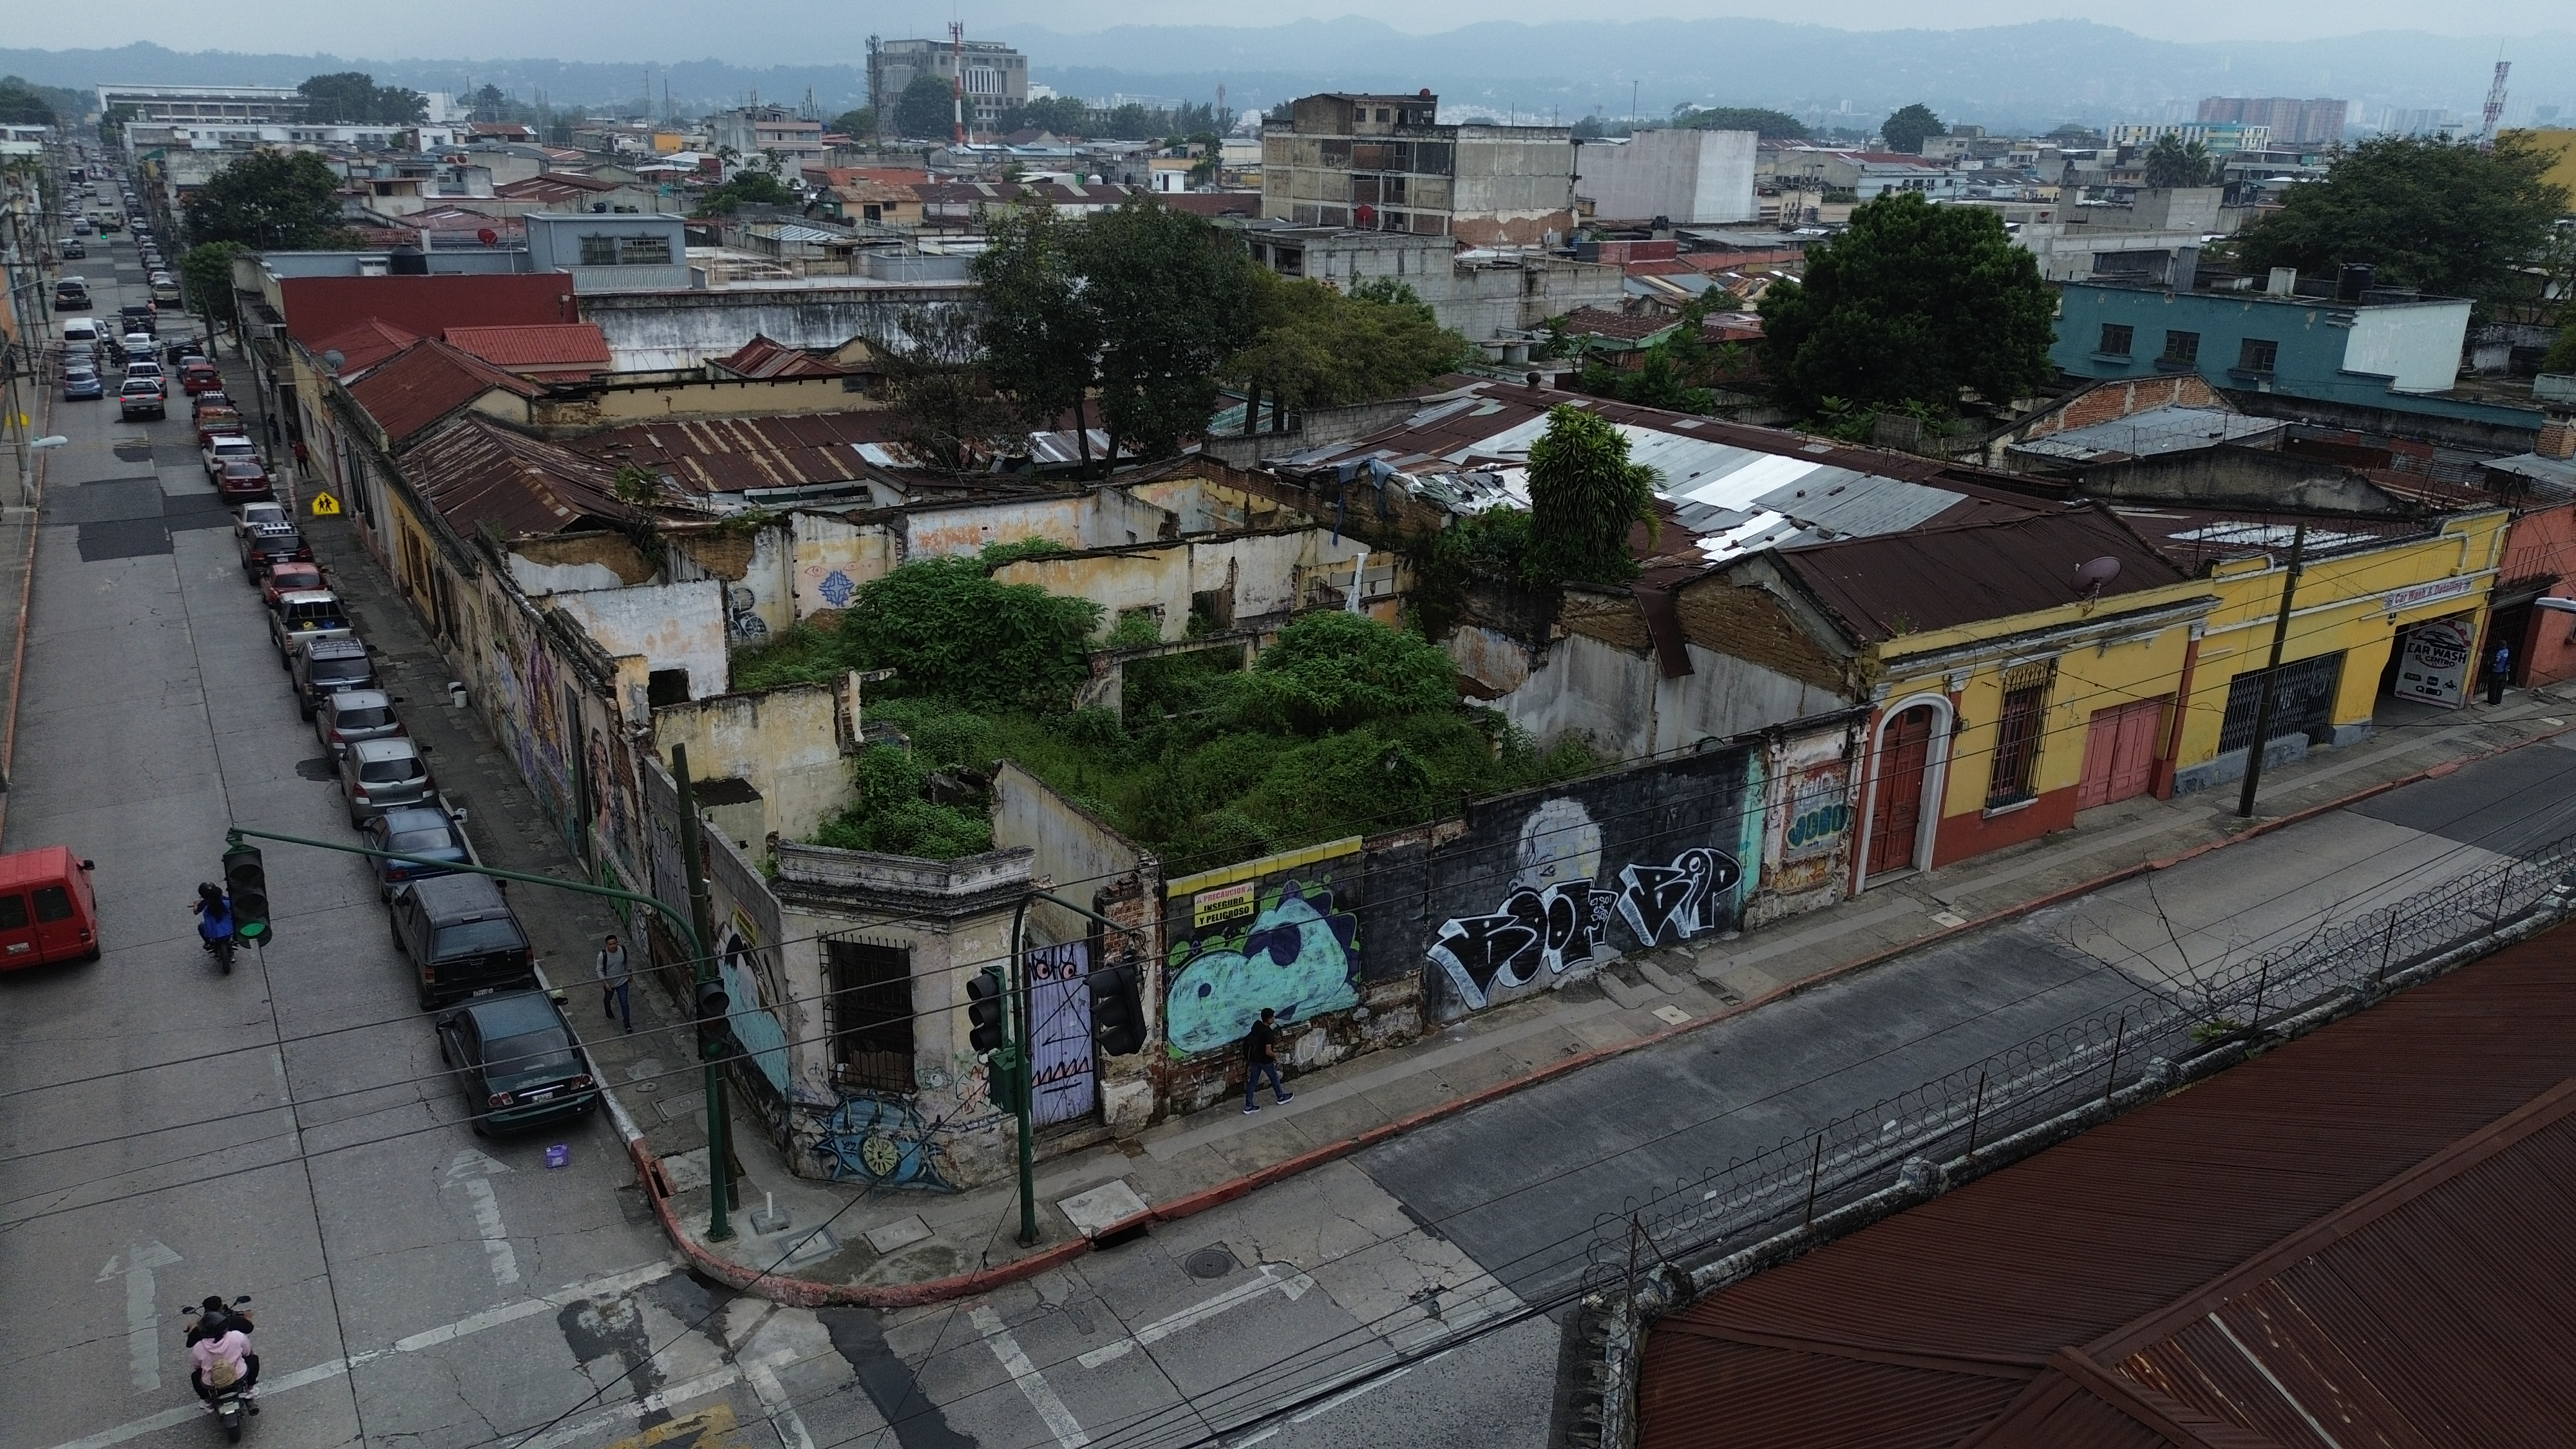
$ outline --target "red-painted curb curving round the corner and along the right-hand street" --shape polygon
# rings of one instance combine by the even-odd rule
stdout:
[[[1471,1109],[1484,1106],[1489,1101],[1504,1098],[1504,1096],[1510,1096],[1515,1091],[1556,1080],[1556,1078],[1561,1078],[1566,1073],[1579,1073],[1584,1067],[1595,1067],[1595,1065],[1607,1062],[1613,1057],[1625,1057],[1628,1052],[1641,1052],[1646,1047],[1654,1047],[1654,1044],[1662,1044],[1662,1042],[1672,1042],[1674,1036],[1687,1036],[1690,1031],[1700,1031],[1705,1026],[1716,1026],[1718,1021],[1734,1021],[1736,1016],[1744,1016],[1749,1011],[1759,1011],[1759,1008],[1765,1008],[1765,1006],[1770,1006],[1775,1000],[1785,1000],[1790,995],[1798,995],[1803,990],[1814,990],[1814,987],[1819,987],[1824,982],[1847,977],[1852,972],[1862,972],[1868,967],[1886,964],[1886,962],[1891,962],[1896,957],[1904,957],[1906,951],[1917,951],[1917,949],[1929,946],[1935,941],[1947,941],[1953,936],[1965,936],[1968,931],[1984,931],[1989,926],[2002,926],[2004,920],[2014,920],[2014,918],[2030,915],[2035,910],[2048,910],[2050,905],[2058,905],[2063,900],[2074,900],[2079,895],[2092,895],[2097,890],[2107,890],[2107,887],[2115,887],[2120,882],[2128,882],[2128,879],[2136,879],[2136,877],[2143,877],[2143,874],[2151,874],[2151,871],[2164,871],[2164,869],[2179,866],[2182,861],[2200,859],[2200,856],[2205,856],[2210,851],[2221,851],[2221,848],[2233,846],[2239,841],[2251,841],[2257,835],[2269,835],[2272,830],[2282,830],[2287,825],[2298,825],[2303,820],[2313,820],[2313,817],[2329,815],[2334,810],[2347,810],[2347,807],[2360,804],[2360,802],[2365,802],[2370,797],[2388,794],[2391,789],[2403,789],[2409,784],[2421,784],[2427,779],[2442,779],[2447,773],[2460,771],[2463,766],[2470,766],[2470,763],[2478,763],[2478,761],[2488,761],[2488,758],[2519,750],[2524,745],[2537,745],[2543,740],[2555,740],[2558,735],[2566,735],[2571,730],[2576,730],[2576,724],[2563,724],[2558,730],[2548,730],[2548,732],[2532,735],[2527,740],[2514,740],[2512,745],[2494,745],[2488,750],[2481,750],[2476,755],[2463,755],[2458,761],[2442,761],[2437,766],[2427,766],[2421,771],[2414,771],[2414,773],[2406,773],[2406,776],[2398,776],[2398,779],[2388,779],[2388,781],[2372,784],[2367,789],[2357,789],[2352,794],[2329,799],[2324,804],[2311,804],[2306,810],[2293,810],[2290,815],[2277,815],[2272,820],[2262,820],[2262,822],[2249,825],[2249,828],[2244,828],[2236,835],[2228,835],[2223,841],[2202,841],[2200,846],[2192,846],[2187,851],[2177,851],[2172,856],[2159,856],[2159,859],[2151,859],[2151,861],[2136,861],[2130,866],[2120,866],[2120,869],[2099,874],[2094,879],[2087,879],[2087,882],[2079,882],[2079,884],[2071,884],[2071,887],[2063,887],[2063,890],[2053,890],[2048,895],[2025,900],[2020,905],[2007,905],[2002,910],[1991,910],[1986,915],[1978,915],[1976,920],[1965,920],[1960,926],[1947,926],[1942,931],[1935,931],[1929,936],[1906,941],[1901,946],[1888,946],[1886,951],[1873,951],[1868,957],[1857,957],[1857,959],[1826,967],[1821,972],[1798,977],[1793,982],[1783,982],[1783,985],[1777,985],[1777,987],[1772,987],[1772,990],[1767,990],[1767,993],[1762,993],[1757,998],[1747,998],[1747,1000],[1739,1000],[1734,1006],[1721,1006],[1718,1011],[1713,1011],[1708,1016],[1700,1016],[1700,1018],[1692,1018],[1692,1021],[1685,1021],[1680,1026],[1667,1026],[1664,1031],[1651,1031],[1646,1036],[1633,1036],[1633,1039],[1618,1042],[1613,1047],[1592,1047],[1587,1052],[1577,1052],[1577,1055],[1564,1057],[1558,1062],[1548,1062],[1546,1067],[1538,1067],[1538,1070],[1533,1070],[1528,1075],[1520,1075],[1520,1078],[1512,1078],[1512,1080],[1504,1080],[1504,1083],[1494,1083],[1494,1085],[1471,1091],[1466,1096],[1443,1101],[1437,1106],[1427,1106],[1422,1111],[1414,1111],[1412,1116],[1399,1116],[1394,1122],[1381,1122],[1381,1124],[1370,1127],[1368,1132],[1345,1137],[1340,1142],[1327,1142],[1321,1147],[1309,1147],[1306,1152],[1298,1152],[1293,1158],[1280,1158],[1278,1163],[1270,1163],[1267,1168],[1255,1168],[1255,1171],[1249,1171],[1249,1173],[1244,1173],[1239,1178],[1229,1178],[1229,1181],[1216,1183],[1211,1189],[1198,1189],[1198,1191],[1182,1194],[1182,1196],[1177,1196],[1172,1201],[1154,1204],[1146,1212],[1141,1212],[1139,1217],[1131,1217],[1126,1222],[1118,1222],[1118,1225],[1103,1230],[1100,1238],[1126,1238],[1126,1235],[1131,1235],[1131,1232],[1136,1232],[1141,1227],[1149,1227],[1154,1222],[1177,1222],[1182,1217],[1200,1214],[1200,1212],[1206,1212],[1211,1207],[1224,1207],[1224,1204],[1229,1204],[1229,1201],[1234,1201],[1239,1196],[1255,1194],[1255,1191],[1260,1191],[1260,1189],[1265,1189],[1270,1183],[1293,1178],[1293,1176],[1306,1173],[1311,1168],[1321,1168],[1324,1163],[1334,1163],[1334,1160],[1347,1158],[1352,1152],[1376,1147],[1378,1142],[1386,1142],[1391,1137],[1401,1137],[1401,1134],[1406,1134],[1406,1132],[1412,1132],[1417,1127],[1427,1127],[1432,1122],[1440,1122],[1443,1116],[1455,1116],[1461,1111],[1471,1111]],[[711,1279],[716,1279],[721,1284],[729,1284],[734,1289],[742,1289],[742,1292],[747,1292],[752,1297],[762,1297],[762,1299],[770,1299],[770,1302],[783,1302],[783,1305],[791,1305],[791,1307],[920,1307],[920,1305],[930,1305],[930,1302],[945,1302],[945,1299],[953,1299],[953,1297],[969,1297],[969,1294],[997,1289],[1002,1284],[1030,1279],[1030,1276],[1038,1276],[1038,1274],[1043,1274],[1048,1269],[1059,1269],[1059,1266],[1064,1266],[1064,1263],[1069,1263],[1069,1261],[1090,1253],[1092,1245],[1095,1245],[1092,1238],[1074,1238],[1069,1243],[1056,1243],[1054,1248],[1046,1248],[1041,1253],[1030,1253],[1028,1258],[1018,1258],[1018,1261],[1002,1263],[997,1269],[976,1269],[974,1274],[958,1274],[958,1276],[948,1276],[948,1279],[925,1279],[925,1281],[917,1281],[917,1284],[884,1284],[884,1287],[878,1287],[878,1284],[822,1284],[822,1281],[814,1281],[814,1279],[799,1279],[799,1276],[788,1276],[788,1274],[762,1274],[762,1271],[757,1271],[757,1269],[752,1269],[747,1263],[734,1263],[732,1258],[724,1258],[724,1256],[708,1250],[703,1243],[698,1243],[696,1238],[688,1235],[688,1230],[680,1225],[680,1214],[670,1204],[670,1196],[672,1196],[670,1194],[670,1178],[662,1173],[662,1160],[654,1155],[652,1147],[644,1145],[641,1134],[629,1137],[626,1140],[626,1150],[629,1150],[629,1155],[636,1163],[636,1181],[644,1183],[644,1196],[652,1199],[654,1214],[662,1220],[662,1232],[667,1232],[670,1240],[680,1248],[680,1253],[688,1256],[690,1266],[696,1266],[701,1274],[706,1274],[706,1276],[711,1276]]]

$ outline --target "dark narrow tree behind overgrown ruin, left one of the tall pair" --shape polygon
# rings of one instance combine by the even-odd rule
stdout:
[[[1082,469],[1092,467],[1087,402],[1100,376],[1100,315],[1084,299],[1074,222],[1054,209],[1005,211],[974,260],[981,284],[984,356],[992,384],[1020,420],[1054,428],[1072,413]]]

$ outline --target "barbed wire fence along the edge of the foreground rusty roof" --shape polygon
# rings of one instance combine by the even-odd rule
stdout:
[[[1636,1359],[1659,1312],[1873,1222],[1883,1214],[1875,1207],[1896,1212],[1960,1176],[2030,1155],[2045,1145],[2030,1140],[2038,1129],[2079,1132],[2241,1060],[2269,1036],[2367,1006],[2393,977],[2512,923],[2555,920],[2576,895],[2563,887],[2571,869],[2576,835],[2563,835],[2378,910],[2324,920],[2269,951],[2241,959],[2231,951],[2202,969],[2184,962],[2161,985],[2081,1021],[1605,1214],[1571,1325],[1595,1385],[1577,1390],[1564,1441],[1628,1444]],[[2545,920],[2527,920],[2535,915]],[[1832,1222],[1819,1230],[1824,1220]]]

